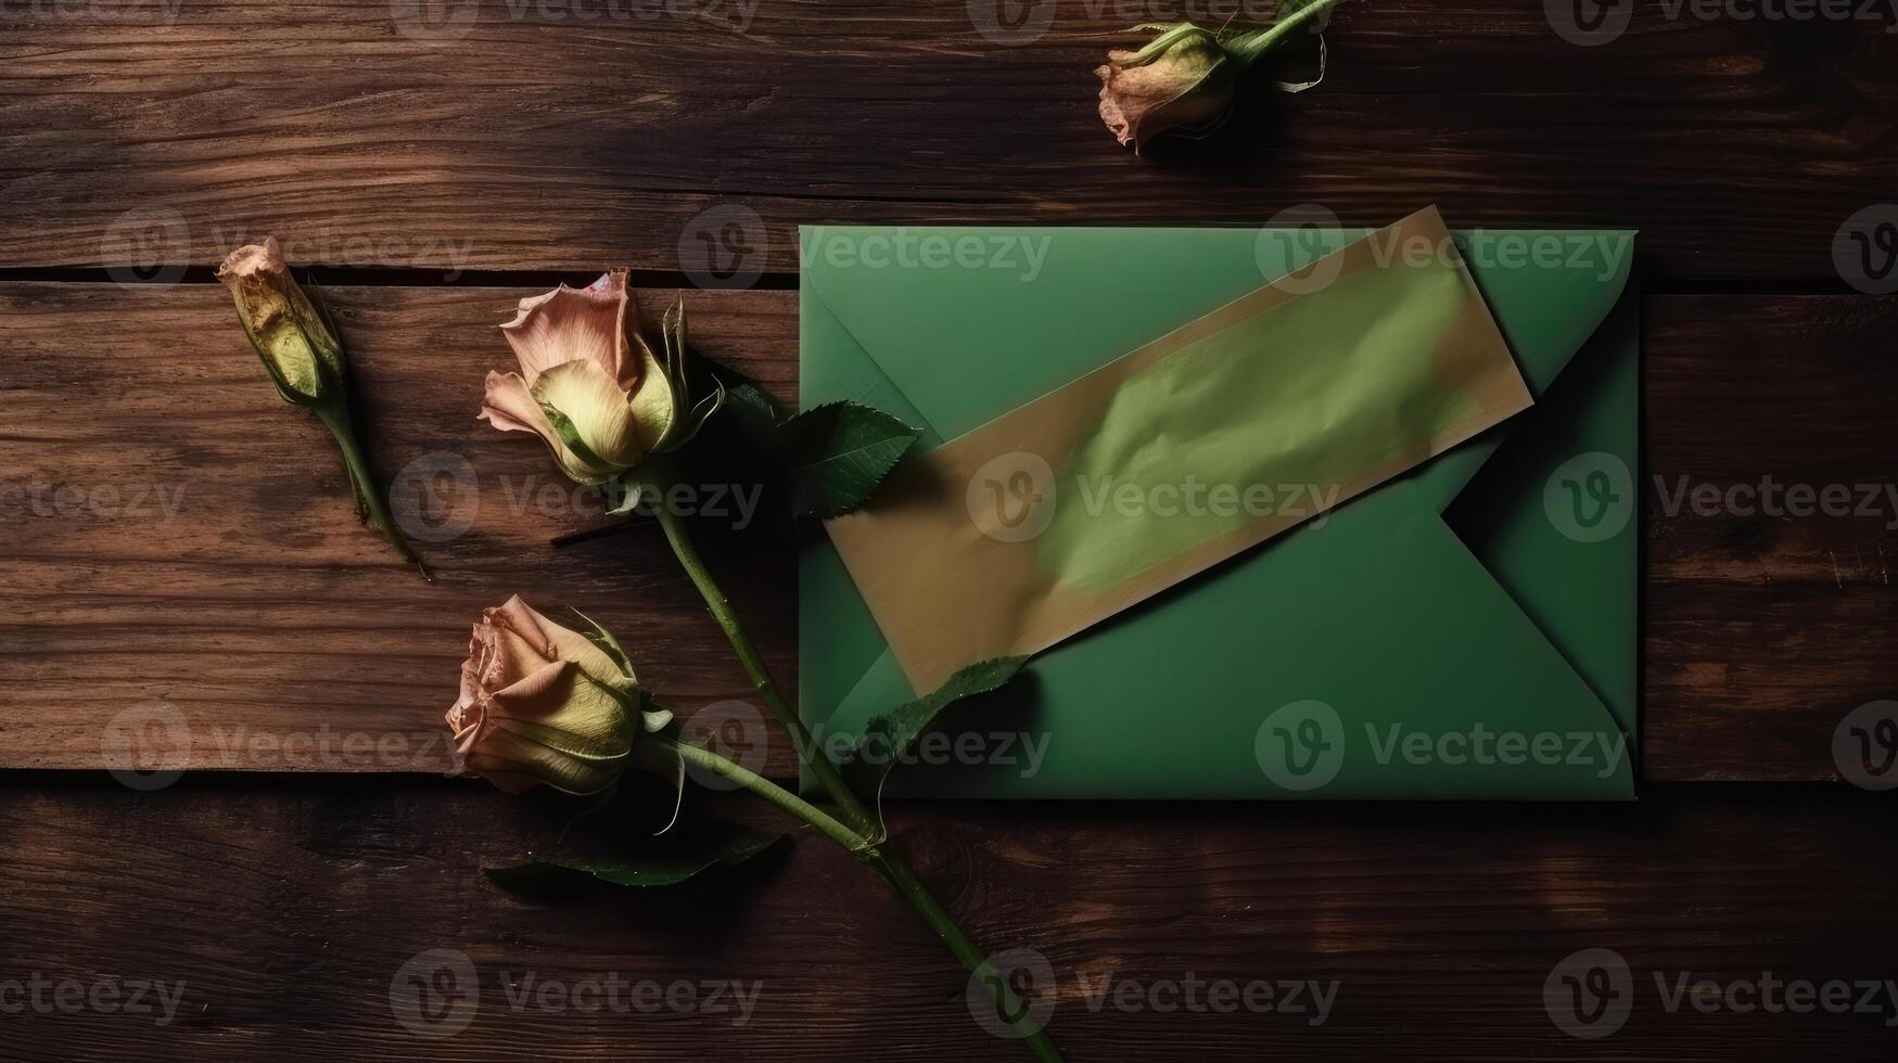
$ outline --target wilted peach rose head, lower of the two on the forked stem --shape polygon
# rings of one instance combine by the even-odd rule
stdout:
[[[518,594],[482,609],[448,710],[465,771],[509,793],[541,784],[598,793],[634,763],[674,774],[676,761],[642,742],[672,714],[651,708],[617,643],[602,638],[611,655]]]

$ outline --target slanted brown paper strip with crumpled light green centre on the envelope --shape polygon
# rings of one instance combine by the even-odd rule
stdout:
[[[911,685],[932,691],[1530,404],[1427,209],[903,461],[828,530]]]

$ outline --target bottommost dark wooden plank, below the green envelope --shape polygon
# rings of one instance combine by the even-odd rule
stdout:
[[[896,820],[983,947],[1048,959],[1050,1029],[1076,1063],[1889,1057],[1889,997],[1858,1014],[1703,1014],[1706,991],[1668,1010],[1655,976],[1668,989],[1682,976],[1898,976],[1892,828],[1890,801],[1816,786],[1661,786],[1634,807],[1410,805],[1403,816],[1327,803],[1296,816],[940,805]],[[23,1006],[4,1019],[6,1052],[1025,1059],[974,1023],[941,945],[816,837],[670,892],[528,902],[478,873],[560,830],[478,784],[4,788],[0,985],[34,974],[182,983],[169,1025]],[[1634,978],[1632,1014],[1604,1040],[1560,1033],[1543,1004],[1553,966],[1587,947],[1617,951]],[[395,1017],[391,983],[427,949],[459,951],[476,972],[478,1008],[459,1035],[416,1036]],[[615,974],[695,991],[755,983],[755,1012],[738,1023],[697,1008],[539,1002],[549,981]],[[1188,974],[1338,985],[1317,1025],[1310,1012],[1089,1006],[1103,978],[1154,987]],[[530,993],[518,1012],[511,991]]]

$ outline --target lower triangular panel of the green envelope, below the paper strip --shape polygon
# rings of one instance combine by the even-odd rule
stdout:
[[[964,719],[983,727],[1021,729],[1010,746],[996,744],[979,763],[905,767],[888,793],[1298,795],[1268,782],[1270,769],[1262,774],[1258,735],[1275,708],[1317,700],[1342,763],[1310,797],[1630,797],[1628,748],[1602,702],[1408,494],[1399,484],[1365,495],[1325,528],[1287,535],[1220,579],[1038,657],[1027,714],[966,710]],[[1340,568],[1340,554],[1361,564]],[[1365,607],[1310,606],[1330,598]],[[1262,607],[1275,602],[1285,606]],[[1444,623],[1446,607],[1456,623]],[[1367,651],[1378,666],[1365,666]],[[1126,697],[1146,689],[1167,691],[1162,714]],[[814,723],[854,735],[907,697],[894,657],[881,655]],[[1467,757],[1405,754],[1418,735],[1458,737],[1473,750],[1499,735],[1537,746],[1558,737],[1564,755],[1471,769]],[[1575,744],[1583,757],[1568,755]]]

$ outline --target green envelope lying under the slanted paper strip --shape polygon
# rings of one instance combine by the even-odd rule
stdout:
[[[805,228],[801,406],[940,446],[1367,232]],[[1040,653],[886,795],[1632,799],[1632,237],[1460,232],[1532,410]],[[799,564],[835,748],[917,691],[828,539]]]

